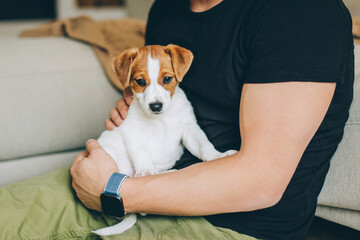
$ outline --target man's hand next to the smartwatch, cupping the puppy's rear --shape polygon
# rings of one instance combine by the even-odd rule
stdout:
[[[119,170],[96,140],[88,140],[86,149],[75,158],[70,168],[72,187],[87,208],[101,211],[100,194],[111,174]]]

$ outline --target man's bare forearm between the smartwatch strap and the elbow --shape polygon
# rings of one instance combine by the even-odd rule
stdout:
[[[261,170],[261,169],[260,169]],[[121,190],[126,212],[211,215],[266,208],[278,201],[266,171],[244,154],[180,171],[128,179]]]

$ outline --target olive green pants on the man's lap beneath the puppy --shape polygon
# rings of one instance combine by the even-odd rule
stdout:
[[[0,239],[100,239],[91,231],[118,221],[85,208],[71,187],[69,168],[0,188]],[[240,239],[202,217],[138,217],[123,234],[102,239]]]

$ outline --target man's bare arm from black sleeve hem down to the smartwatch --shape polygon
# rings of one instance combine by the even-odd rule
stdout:
[[[125,210],[191,216],[275,205],[320,126],[335,86],[245,84],[240,151],[180,171],[128,179],[121,190]]]

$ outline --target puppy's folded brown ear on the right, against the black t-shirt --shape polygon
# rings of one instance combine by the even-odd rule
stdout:
[[[191,51],[173,44],[167,45],[165,52],[170,54],[176,80],[181,82],[191,66],[194,55]]]

